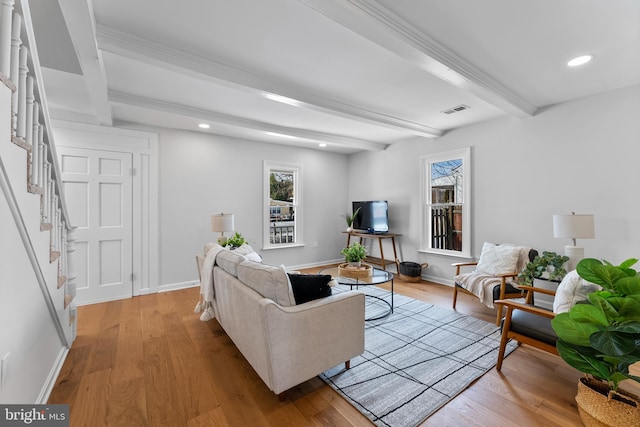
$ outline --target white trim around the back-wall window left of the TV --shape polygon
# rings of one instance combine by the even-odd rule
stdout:
[[[272,170],[290,172],[293,174],[293,241],[286,243],[272,243],[271,234],[271,191],[270,176]],[[262,249],[279,249],[303,246],[302,240],[302,165],[265,160],[263,162],[263,203],[262,203]]]

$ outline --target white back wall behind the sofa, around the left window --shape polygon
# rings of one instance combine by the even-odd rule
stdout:
[[[218,237],[211,232],[213,213],[233,213],[236,230],[267,263],[302,266],[340,258],[346,155],[197,132],[158,134],[161,287],[197,279],[195,255]],[[264,160],[302,165],[304,247],[261,250]]]

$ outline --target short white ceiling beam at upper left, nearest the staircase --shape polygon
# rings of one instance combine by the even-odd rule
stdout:
[[[95,34],[95,19],[91,2],[86,0],[58,0],[67,30],[73,40],[76,55],[82,68],[87,90],[96,117],[101,125],[111,126],[113,117],[111,105],[107,99],[107,75],[98,51]]]

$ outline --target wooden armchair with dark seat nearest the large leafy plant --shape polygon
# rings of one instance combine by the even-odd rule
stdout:
[[[497,371],[502,369],[504,352],[509,339],[516,340],[518,345],[525,343],[540,350],[558,354],[558,350],[556,350],[558,337],[551,327],[551,319],[555,314],[552,310],[532,304],[534,292],[555,296],[555,291],[533,286],[521,286],[520,288],[526,292],[525,303],[513,300],[496,301],[507,309],[502,320],[502,338],[500,339],[498,363],[496,364]]]

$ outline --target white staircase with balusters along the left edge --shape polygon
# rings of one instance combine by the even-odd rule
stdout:
[[[58,160],[27,0],[0,0],[0,196],[20,236],[35,282],[66,348],[75,339],[73,229],[62,196]],[[7,222],[7,221],[5,221]],[[9,221],[10,222],[10,221]],[[4,260],[11,268],[11,259]],[[1,273],[0,273],[1,274]],[[0,351],[3,349],[0,348]],[[0,354],[2,357],[2,354]]]

